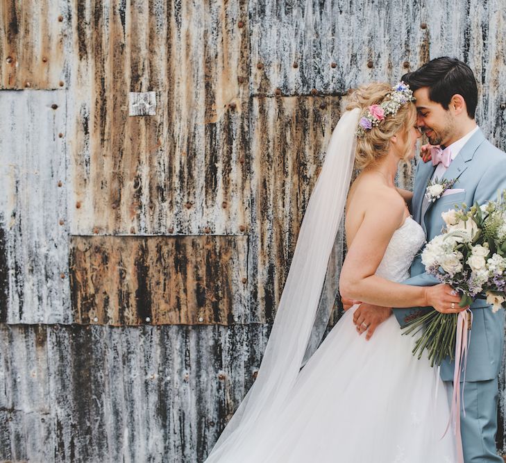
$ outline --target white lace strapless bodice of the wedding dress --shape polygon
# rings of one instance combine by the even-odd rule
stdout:
[[[423,228],[412,217],[407,217],[392,235],[376,275],[397,282],[409,278],[413,258],[424,243]]]

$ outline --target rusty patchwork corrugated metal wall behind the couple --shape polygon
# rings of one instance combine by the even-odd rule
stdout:
[[[505,6],[1,1],[0,460],[202,461],[346,94],[457,56],[505,149]]]

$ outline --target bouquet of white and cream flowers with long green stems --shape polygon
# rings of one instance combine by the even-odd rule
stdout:
[[[425,270],[462,294],[461,307],[486,298],[494,312],[506,308],[506,190],[497,201],[471,208],[455,205],[441,215],[445,228],[421,254]],[[430,310],[407,323],[404,334],[423,329],[413,354],[420,358],[427,348],[432,365],[447,355],[453,359],[458,316]]]

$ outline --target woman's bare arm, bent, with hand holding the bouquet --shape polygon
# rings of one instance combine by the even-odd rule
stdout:
[[[447,285],[410,286],[375,274],[392,235],[403,224],[404,210],[397,195],[376,195],[346,254],[339,278],[341,296],[392,308],[432,306],[441,312],[459,312],[458,307],[450,309],[460,298]]]

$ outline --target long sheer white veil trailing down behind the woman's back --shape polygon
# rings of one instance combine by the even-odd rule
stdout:
[[[359,115],[359,108],[344,112],[332,133],[258,376],[212,449],[208,463],[238,463],[237,455],[247,455],[248,446],[254,448],[255,434],[262,423],[280,414],[301,366],[321,341],[321,328],[327,325],[337,293],[337,278],[326,275],[353,173]]]

